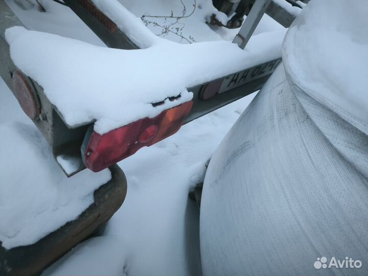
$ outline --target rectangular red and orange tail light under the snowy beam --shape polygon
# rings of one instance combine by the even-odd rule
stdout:
[[[174,134],[181,127],[193,105],[192,101],[161,112],[155,118],[144,118],[103,135],[87,132],[81,148],[85,166],[101,171]]]

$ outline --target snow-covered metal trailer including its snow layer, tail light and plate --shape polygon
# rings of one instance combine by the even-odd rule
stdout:
[[[185,80],[176,86],[170,86],[163,78],[164,75],[161,75],[160,84],[152,82],[150,85],[147,76],[152,75],[152,71],[157,71],[158,67],[153,66],[151,71],[143,72],[140,71],[141,68],[134,69],[138,59],[127,60],[127,55],[133,53],[129,51],[123,52],[121,59],[121,67],[127,68],[123,71],[126,74],[119,75],[119,72],[116,72],[119,71],[119,64],[113,66],[100,64],[100,66],[94,61],[101,55],[97,50],[93,51],[90,58],[78,60],[84,50],[76,53],[75,56],[71,54],[74,50],[63,55],[63,52],[67,52],[63,49],[75,48],[73,48],[74,44],[68,44],[69,42],[59,47],[60,43],[64,43],[62,40],[58,41],[59,38],[55,38],[56,42],[48,44],[44,42],[50,41],[47,35],[44,37],[46,40],[42,40],[43,34],[31,33],[19,28],[12,28],[5,37],[6,29],[23,25],[4,1],[0,1],[0,47],[4,61],[2,63],[5,64],[0,69],[1,75],[12,89],[22,109],[49,142],[57,163],[67,176],[72,176],[86,167],[93,171],[100,171],[116,164],[140,148],[150,146],[172,135],[182,124],[259,90],[281,62],[280,45],[285,31],[250,36],[267,7],[268,12],[270,7],[273,7],[271,13],[273,11],[276,19],[278,13],[274,12],[274,7],[282,10],[283,14],[288,14],[288,20],[294,18],[292,13],[271,3],[271,0],[257,0],[234,39],[240,48],[237,48],[236,44],[223,43],[224,41],[181,45],[158,38],[118,1],[66,0],[65,3],[110,48],[144,49],[140,53],[146,53],[151,49],[158,54],[168,52],[165,54],[169,60],[168,66],[175,66],[175,64],[183,66],[183,72],[178,70],[176,74],[169,75],[175,78],[171,82],[175,82],[176,79]],[[286,17],[282,16],[282,18]],[[285,22],[283,24],[285,25]],[[26,36],[26,33],[30,36]],[[20,41],[22,39],[25,40]],[[28,44],[28,46],[19,49],[19,44]],[[246,48],[245,45],[247,45]],[[45,48],[42,49],[42,47]],[[242,50],[244,48],[245,50]],[[69,57],[71,60],[74,59],[76,66],[73,65],[73,67],[77,68],[65,68],[64,64],[58,65],[55,62],[51,64],[47,57],[36,54],[53,49],[59,51],[60,59]],[[193,55],[193,60],[187,61],[180,56],[177,57],[181,51],[186,55]],[[198,63],[195,60],[198,58],[196,55],[201,56],[200,60],[203,62]],[[27,56],[28,64],[21,64],[24,60],[21,56]],[[107,59],[110,56],[107,55]],[[142,56],[145,58],[145,55]],[[147,55],[145,61],[150,65],[156,64],[154,59],[150,59],[151,56]],[[100,63],[103,62],[102,58]],[[205,64],[206,62],[208,64]],[[88,68],[83,66],[78,68],[78,64],[82,63],[88,63]],[[90,71],[91,63],[94,63],[92,67],[103,69],[97,72]],[[194,67],[191,71],[195,72],[187,72],[190,67]],[[35,68],[38,69],[34,70]],[[53,73],[48,75],[42,71]],[[92,75],[88,76],[91,73],[106,76],[106,83],[100,86],[101,89],[108,90],[111,85],[124,86],[131,78],[136,79],[136,86],[132,84],[130,90],[127,89],[129,91],[121,94],[103,91],[103,93],[88,95],[85,91],[83,95],[80,93],[81,86],[83,89],[93,90],[102,82]],[[140,84],[143,82],[147,82],[146,86]],[[55,89],[56,86],[57,89]],[[77,93],[82,96],[74,97]],[[125,96],[120,96],[122,94]],[[132,96],[127,96],[129,94],[136,95],[136,98],[132,99]],[[68,97],[70,100],[65,100]],[[108,97],[112,100],[105,101]],[[139,112],[141,108],[138,105],[134,106],[134,104],[140,104],[139,101],[142,99],[146,104],[142,109],[146,108],[146,113]],[[124,106],[112,107],[117,102],[124,102]],[[88,110],[88,106],[92,109],[91,106],[94,104],[95,109],[100,110]],[[129,106],[131,108],[127,108]],[[127,111],[114,112],[113,116],[108,118],[110,123],[101,123],[108,117],[106,110],[109,108],[127,108]],[[75,117],[75,112],[71,109],[79,110],[79,113],[84,115],[79,116],[78,120],[71,119]]]

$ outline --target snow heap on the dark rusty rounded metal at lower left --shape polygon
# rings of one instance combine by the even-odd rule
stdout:
[[[111,179],[107,169],[67,178],[33,125],[2,123],[0,133],[0,242],[7,249],[33,244],[78,217]]]

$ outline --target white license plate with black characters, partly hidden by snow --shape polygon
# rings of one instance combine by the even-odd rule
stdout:
[[[224,93],[245,83],[271,74],[280,64],[281,58],[248,68],[244,71],[225,77],[218,94]]]

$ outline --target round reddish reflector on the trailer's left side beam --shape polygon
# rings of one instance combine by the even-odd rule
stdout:
[[[19,70],[15,70],[12,75],[12,81],[13,94],[18,100],[20,107],[30,119],[35,120],[39,116],[41,109],[31,80]]]

